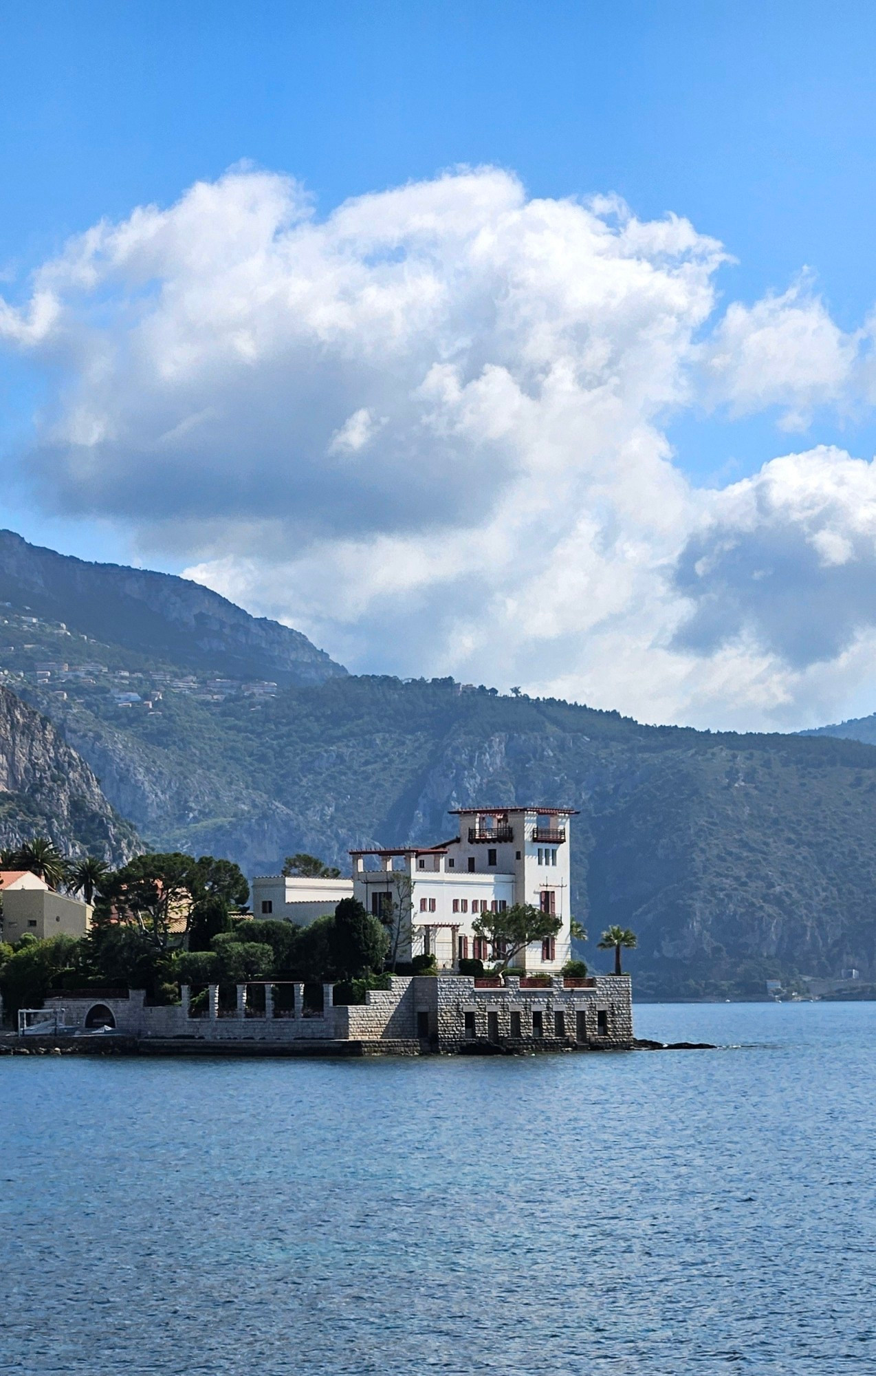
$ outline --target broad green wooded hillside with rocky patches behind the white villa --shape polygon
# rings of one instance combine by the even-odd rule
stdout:
[[[851,739],[876,718],[733,735],[450,678],[246,684],[220,649],[195,670],[131,630],[113,638],[109,614],[99,641],[17,596],[0,607],[0,674],[160,850],[224,854],[249,875],[307,852],[347,872],[349,848],[452,835],[454,806],[568,805],[572,912],[638,933],[639,993],[759,996],[766,978],[847,966],[876,978],[876,749]],[[22,821],[32,794],[1,797],[0,830],[3,808],[12,838],[41,830],[39,806]]]

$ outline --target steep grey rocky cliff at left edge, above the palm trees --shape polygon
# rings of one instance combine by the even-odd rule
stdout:
[[[69,856],[121,864],[138,837],[55,727],[0,688],[0,846],[45,835]]]

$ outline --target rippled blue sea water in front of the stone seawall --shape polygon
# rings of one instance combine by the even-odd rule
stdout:
[[[876,1004],[716,1051],[0,1060],[0,1372],[876,1370]]]

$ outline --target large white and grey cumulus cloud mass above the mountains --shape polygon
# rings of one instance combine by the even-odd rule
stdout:
[[[352,669],[802,725],[872,677],[870,465],[818,450],[694,490],[666,424],[843,407],[864,334],[804,279],[721,314],[722,261],[678,216],[495,168],[323,219],[234,169],[73,239],[0,338],[51,365],[47,502]]]

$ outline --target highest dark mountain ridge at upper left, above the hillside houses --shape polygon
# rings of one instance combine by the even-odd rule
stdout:
[[[250,616],[186,578],[92,564],[0,531],[0,600],[142,655],[283,684],[345,674],[297,630]]]

